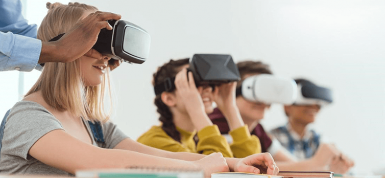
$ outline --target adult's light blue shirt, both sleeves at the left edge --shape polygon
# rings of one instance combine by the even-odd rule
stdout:
[[[0,0],[0,71],[42,69],[36,34],[37,26],[22,16],[19,0]]]

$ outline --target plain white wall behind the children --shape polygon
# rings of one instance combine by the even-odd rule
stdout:
[[[124,63],[112,72],[113,120],[133,139],[158,124],[151,86],[157,66],[194,53],[225,53],[236,61],[260,59],[277,75],[333,88],[335,102],[321,111],[314,127],[356,161],[356,172],[385,167],[385,2],[79,2],[122,14],[151,34],[148,61]],[[273,105],[263,124],[270,129],[285,120],[282,107]]]

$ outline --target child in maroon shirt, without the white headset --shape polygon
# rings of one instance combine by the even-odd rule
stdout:
[[[272,75],[269,65],[264,64],[260,61],[242,61],[237,63],[241,81],[237,84],[237,90],[242,89],[242,83],[245,79],[251,77],[259,77],[262,75]],[[281,83],[282,84],[282,83]],[[286,87],[290,89],[290,87]],[[297,88],[295,88],[297,90]],[[297,92],[297,91],[295,91]],[[236,94],[236,105],[239,108],[240,115],[244,120],[245,124],[249,125],[249,130],[252,135],[259,138],[261,143],[262,152],[270,152],[275,159],[276,163],[281,170],[284,171],[320,171],[329,170],[326,167],[330,164],[331,158],[336,155],[336,150],[330,145],[323,145],[322,149],[316,153],[312,159],[297,161],[290,152],[288,152],[280,142],[272,138],[267,133],[262,125],[259,123],[264,117],[264,113],[270,108],[270,103],[264,103],[260,101],[250,101],[246,99],[242,93],[237,92]],[[227,134],[229,127],[227,125],[225,116],[221,113],[218,108],[214,109],[214,112],[209,115],[212,122],[219,126],[222,134]],[[332,170],[339,166],[331,166]],[[346,172],[345,170],[338,169],[339,173]]]

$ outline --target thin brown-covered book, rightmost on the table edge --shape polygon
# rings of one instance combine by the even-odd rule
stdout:
[[[333,172],[327,171],[279,171],[284,178],[333,178]]]

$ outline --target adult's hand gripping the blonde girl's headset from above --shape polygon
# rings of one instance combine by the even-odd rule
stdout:
[[[121,15],[110,12],[94,12],[80,20],[73,28],[57,41],[43,41],[38,63],[71,62],[86,55],[95,59],[102,59],[100,53],[91,49],[98,40],[101,29],[112,30],[106,20],[118,20]]]

